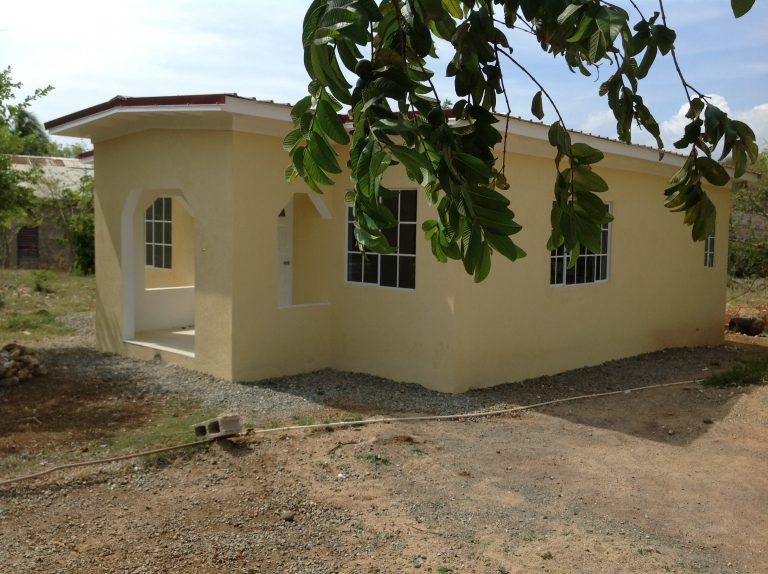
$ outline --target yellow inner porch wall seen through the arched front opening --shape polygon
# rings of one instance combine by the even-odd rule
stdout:
[[[187,211],[184,200],[172,197],[171,201],[171,268],[145,267],[144,286],[147,289],[195,284],[195,220]],[[145,205],[144,209],[147,207],[149,205]]]

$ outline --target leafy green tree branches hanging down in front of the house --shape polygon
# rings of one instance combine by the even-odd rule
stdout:
[[[384,185],[384,174],[401,164],[437,208],[438,218],[422,224],[435,257],[460,259],[482,281],[494,252],[513,261],[525,255],[512,239],[520,225],[502,193],[509,189],[507,130],[499,122],[512,111],[504,78],[511,66],[532,82],[533,115],[542,119],[547,104],[558,117],[549,130],[556,175],[548,247],[564,246],[571,264],[582,246],[598,251],[600,227],[611,218],[599,195],[608,185],[595,171],[603,154],[571,141],[556,103],[514,55],[511,39],[525,34],[571,72],[590,76],[601,68],[605,75],[602,68],[609,67],[599,95],[613,112],[619,139],[631,143],[633,129],[644,129],[660,155],[659,124],[640,83],[657,57],[674,60],[690,102],[690,122],[675,146],[690,152],[665,192],[666,205],[685,213],[695,240],[705,239],[715,209],[702,182],[725,185],[730,176],[719,161],[729,155],[741,176],[757,157],[755,135],[685,80],[663,0],[648,15],[634,1],[627,4],[625,10],[602,0],[314,0],[302,38],[309,95],[294,106],[294,129],[283,142],[291,157],[286,178],[301,177],[321,193],[342,171],[335,146],[348,145],[354,187],[346,202],[355,238],[364,251],[387,253],[393,248],[383,230],[396,218],[382,199],[397,192]],[[754,0],[731,4],[740,17]],[[450,99],[457,99],[449,109],[441,106],[427,68],[437,40],[452,50],[445,74],[454,79]]]

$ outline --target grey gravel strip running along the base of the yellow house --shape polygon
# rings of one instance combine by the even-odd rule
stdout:
[[[92,313],[73,314],[63,322],[77,333],[41,347],[43,361],[50,369],[70,369],[85,378],[125,382],[135,386],[140,394],[197,400],[222,412],[240,413],[250,422],[284,419],[328,407],[395,415],[492,410],[535,403],[542,397],[552,399],[702,378],[712,369],[730,366],[736,355],[729,346],[672,349],[522,383],[445,394],[413,383],[333,369],[233,383],[174,365],[98,352],[93,344]]]

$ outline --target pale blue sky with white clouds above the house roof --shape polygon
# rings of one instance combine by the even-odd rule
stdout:
[[[616,0],[626,5],[624,0]],[[43,121],[113,98],[238,93],[277,102],[305,95],[301,24],[309,0],[26,0],[0,16],[0,66],[11,66],[22,93],[54,86],[32,111]],[[657,2],[639,0],[650,15]],[[729,0],[666,0],[668,24],[688,83],[713,96],[732,117],[747,121],[768,148],[768,2],[736,20]],[[615,121],[597,94],[603,78],[568,71],[524,34],[512,34],[515,56],[552,94],[569,128],[614,136]],[[445,45],[447,46],[447,45]],[[441,56],[448,50],[441,46]],[[432,69],[442,98],[455,100]],[[504,70],[512,113],[530,118],[537,88],[512,67]],[[662,126],[667,146],[685,123],[685,93],[671,58],[658,58],[641,95]],[[506,110],[500,110],[502,112]],[[556,119],[545,105],[545,122]],[[67,141],[64,138],[60,141]],[[71,141],[71,140],[70,140]],[[651,144],[648,134],[638,143]]]

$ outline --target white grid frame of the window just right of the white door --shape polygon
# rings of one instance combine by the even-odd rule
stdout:
[[[397,195],[397,213],[394,213],[393,215],[397,219],[397,225],[392,228],[397,231],[398,236],[398,249],[397,252],[392,254],[385,254],[380,255],[378,253],[368,253],[368,254],[361,254],[360,251],[356,248],[354,244],[354,236],[350,237],[351,228],[353,220],[351,219],[352,215],[352,209],[347,207],[346,209],[346,216],[344,217],[344,225],[345,225],[345,233],[344,233],[344,282],[350,285],[359,285],[359,286],[365,286],[365,287],[378,287],[381,289],[397,289],[398,291],[415,291],[416,289],[416,243],[418,242],[418,190],[414,188],[403,188],[399,190],[395,190],[398,192]],[[414,198],[414,209],[413,209],[413,220],[401,220],[401,202],[403,194],[402,192],[412,192],[413,198]],[[400,253],[400,232],[404,226],[413,226],[414,228],[414,245],[413,245],[413,253]],[[385,230],[385,232],[388,230]],[[363,268],[361,269],[361,276],[360,280],[356,279],[350,279],[350,269],[349,269],[349,260],[350,256],[360,256],[360,257],[369,257],[369,258],[376,258],[376,280],[375,281],[366,281],[365,280],[365,260],[363,260]],[[396,258],[396,275],[395,275],[395,285],[382,285],[382,257],[395,257]],[[410,258],[413,260],[413,286],[404,285],[401,284],[401,276],[400,276],[400,266],[401,266],[401,260]]]

